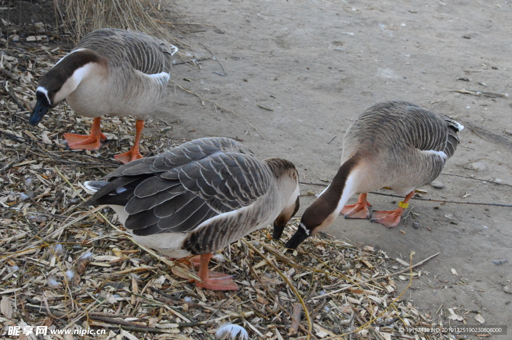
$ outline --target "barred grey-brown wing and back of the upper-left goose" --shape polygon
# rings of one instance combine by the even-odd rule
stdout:
[[[76,49],[91,49],[106,57],[112,66],[127,63],[147,75],[168,73],[170,57],[178,49],[167,41],[141,32],[100,29],[83,37]]]

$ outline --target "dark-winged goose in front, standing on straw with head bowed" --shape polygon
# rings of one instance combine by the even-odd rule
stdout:
[[[281,237],[299,207],[298,174],[282,158],[260,161],[229,138],[201,138],[84,183],[84,202],[109,205],[135,241],[174,259],[199,255],[200,288],[236,290],[208,270],[212,253],[274,222]],[[198,259],[196,258],[196,261]]]

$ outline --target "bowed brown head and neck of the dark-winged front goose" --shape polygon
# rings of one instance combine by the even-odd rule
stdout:
[[[272,238],[281,238],[288,221],[295,216],[300,207],[298,187],[298,172],[293,163],[282,158],[269,158],[265,160],[278,183],[278,190],[285,201],[285,207],[274,220]]]

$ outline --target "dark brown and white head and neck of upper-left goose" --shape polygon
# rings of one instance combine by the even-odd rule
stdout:
[[[53,69],[42,76],[36,89],[36,104],[29,123],[37,125],[49,109],[68,97],[87,77],[102,58],[95,52],[78,49],[60,59]]]

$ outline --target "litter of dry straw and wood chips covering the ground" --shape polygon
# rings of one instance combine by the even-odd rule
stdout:
[[[107,330],[75,337],[85,339],[211,340],[229,321],[250,338],[388,340],[418,338],[399,332],[404,325],[448,323],[449,314],[441,319],[401,297],[395,280],[412,282],[420,271],[328,235],[308,239],[293,254],[268,230],[231,244],[210,269],[234,276],[236,292],[181,280],[174,263],[134,243],[108,208],[80,206],[82,183],[118,166],[111,156],[129,147],[134,120],[105,118],[110,140],[97,152],[67,149],[62,133],[87,133],[90,120],[60,105],[38,127],[27,124],[38,79],[62,51],[10,47],[0,83],[0,334],[12,325],[45,325]],[[161,122],[146,122],[146,155],[183,142],[171,140],[172,129]]]

